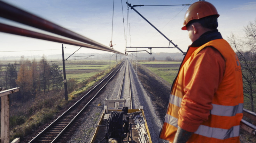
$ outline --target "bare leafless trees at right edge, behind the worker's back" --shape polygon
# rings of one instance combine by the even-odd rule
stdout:
[[[242,70],[244,97],[250,100],[251,111],[254,111],[256,98],[256,19],[245,27],[245,38],[241,39],[233,33],[228,37],[236,52]]]

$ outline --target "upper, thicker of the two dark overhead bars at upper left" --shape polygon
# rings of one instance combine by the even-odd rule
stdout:
[[[9,5],[8,3],[5,3],[3,1],[0,1],[0,17],[13,20],[25,25],[29,25],[35,28],[39,28],[57,35],[68,37],[80,42],[98,46],[103,51],[112,51],[114,53],[121,53],[114,49],[111,49],[110,47],[107,47],[103,44],[93,41],[90,38],[79,35],[75,32],[72,32],[71,30],[63,28],[57,24],[54,24],[46,19],[43,19],[36,15],[30,14],[27,11],[24,11],[22,9]]]

